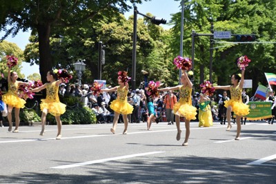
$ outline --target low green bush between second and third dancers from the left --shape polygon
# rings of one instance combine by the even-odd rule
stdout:
[[[57,124],[55,116],[47,115],[47,121],[51,124]],[[63,125],[71,124],[92,124],[96,123],[96,116],[90,108],[75,108],[73,110],[67,109],[64,114],[61,115],[61,122]]]

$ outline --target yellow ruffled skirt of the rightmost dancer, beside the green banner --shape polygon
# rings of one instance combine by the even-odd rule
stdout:
[[[224,101],[224,103],[224,106],[226,108],[228,108],[228,106],[232,107],[232,111],[236,114],[236,116],[246,116],[247,114],[249,114],[249,105],[246,105],[239,101],[234,101],[232,99]]]

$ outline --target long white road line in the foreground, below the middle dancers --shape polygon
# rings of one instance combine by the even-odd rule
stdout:
[[[130,158],[137,157],[137,156],[146,156],[146,155],[150,155],[150,154],[159,154],[159,153],[164,153],[164,152],[146,152],[146,153],[141,153],[141,154],[129,154],[129,155],[125,155],[125,156],[117,156],[117,157],[108,158],[108,159],[99,159],[99,160],[87,161],[87,162],[83,162],[83,163],[74,163],[74,164],[70,164],[70,165],[60,165],[60,166],[51,167],[51,168],[52,169],[68,169],[68,168],[72,168],[72,167],[81,167],[83,165],[92,165],[92,164],[95,164],[95,163],[104,163],[104,162],[108,162],[108,161],[117,161],[117,160],[121,160],[121,159],[130,159]]]

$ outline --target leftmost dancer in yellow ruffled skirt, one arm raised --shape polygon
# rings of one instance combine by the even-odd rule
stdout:
[[[10,67],[8,68],[8,93],[3,94],[2,101],[8,105],[8,132],[12,131],[12,109],[14,108],[15,116],[15,128],[12,132],[19,132],[19,111],[21,108],[24,108],[26,101],[19,98],[18,88],[21,84],[28,85],[29,83],[24,83],[22,81],[17,81],[18,75],[17,72],[10,72]]]

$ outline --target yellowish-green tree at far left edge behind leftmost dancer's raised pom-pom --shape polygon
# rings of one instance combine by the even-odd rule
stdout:
[[[21,63],[23,61],[23,51],[15,43],[10,43],[8,41],[2,41],[0,43],[0,72],[4,76],[8,76],[8,66],[7,66],[7,55],[14,55],[18,58],[18,63],[12,68],[12,71],[17,72],[19,78],[24,78],[24,74],[21,74]]]

